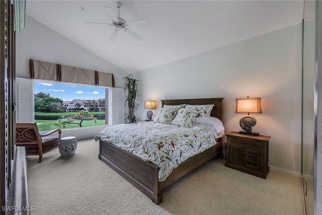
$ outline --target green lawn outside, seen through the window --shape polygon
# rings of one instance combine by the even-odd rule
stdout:
[[[75,114],[75,112],[73,112],[73,113]],[[98,113],[98,112],[95,112],[95,113]],[[74,115],[74,114],[71,114],[71,115]],[[58,121],[57,120],[35,120],[35,123],[37,123],[39,131],[46,131],[46,130],[53,130],[56,128],[60,128],[58,125],[55,125],[56,122],[58,122]],[[79,122],[79,120],[75,120],[75,122]],[[105,125],[105,120],[104,119],[96,120],[96,123],[94,121],[83,121],[82,122],[82,127],[97,126],[97,125]],[[79,125],[69,124],[69,125],[66,125],[65,128],[79,128]],[[61,127],[60,129],[64,129],[64,128]]]

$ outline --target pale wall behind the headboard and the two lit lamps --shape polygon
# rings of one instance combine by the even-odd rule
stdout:
[[[239,131],[235,99],[262,98],[253,131],[272,136],[269,166],[301,172],[302,23],[135,73],[140,103],[224,97],[226,131]],[[139,118],[146,118],[141,105]]]

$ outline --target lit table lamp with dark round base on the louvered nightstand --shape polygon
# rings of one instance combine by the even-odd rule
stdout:
[[[253,136],[258,136],[260,133],[252,132],[252,127],[256,125],[256,119],[250,113],[262,113],[261,108],[261,98],[250,98],[247,99],[236,99],[236,112],[235,113],[247,113],[240,118],[239,125],[243,128],[242,131],[239,131],[241,134],[248,134]]]

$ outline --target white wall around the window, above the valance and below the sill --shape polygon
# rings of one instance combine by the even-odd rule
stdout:
[[[122,87],[122,78],[129,75],[56,31],[26,16],[25,29],[16,34],[16,77],[30,79],[29,59],[112,73],[115,87]],[[76,136],[78,140],[93,138],[103,127],[63,130],[62,136]]]

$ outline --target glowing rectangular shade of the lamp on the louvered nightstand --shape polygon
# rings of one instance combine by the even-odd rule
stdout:
[[[236,113],[262,113],[261,98],[236,99]]]

